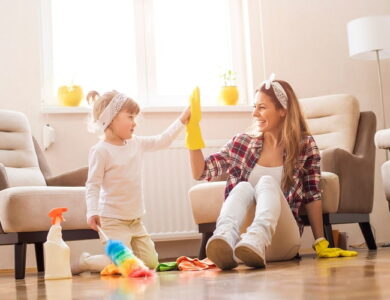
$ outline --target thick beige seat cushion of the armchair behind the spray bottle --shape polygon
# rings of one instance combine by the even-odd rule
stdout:
[[[4,232],[46,231],[50,210],[67,207],[63,229],[89,229],[84,187],[11,187],[0,191],[0,223]]]

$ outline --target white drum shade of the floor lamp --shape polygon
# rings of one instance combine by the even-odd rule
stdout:
[[[372,16],[352,20],[347,24],[349,55],[356,59],[390,58],[390,16]]]

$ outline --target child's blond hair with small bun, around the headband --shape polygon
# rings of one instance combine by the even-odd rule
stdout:
[[[96,122],[99,120],[100,115],[104,111],[104,109],[110,104],[112,99],[118,95],[119,92],[113,90],[110,92],[104,93],[102,96],[99,95],[96,91],[90,91],[87,94],[87,102],[90,105],[93,105],[92,109],[92,122]],[[132,98],[128,97],[126,102],[123,104],[121,111],[127,111],[131,114],[138,115],[140,112],[140,107],[137,102],[135,102]]]

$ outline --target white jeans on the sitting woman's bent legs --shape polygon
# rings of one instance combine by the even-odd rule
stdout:
[[[238,183],[222,205],[217,227],[232,223],[238,232],[253,202],[256,212],[247,232],[262,239],[266,260],[293,258],[300,248],[299,227],[280,185],[271,176],[262,176],[255,187],[245,181]]]

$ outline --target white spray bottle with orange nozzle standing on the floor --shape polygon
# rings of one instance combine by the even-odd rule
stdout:
[[[47,241],[44,244],[45,253],[45,279],[72,278],[70,271],[70,249],[62,239],[61,221],[64,221],[62,213],[68,209],[65,207],[55,208],[50,211],[52,218]]]

